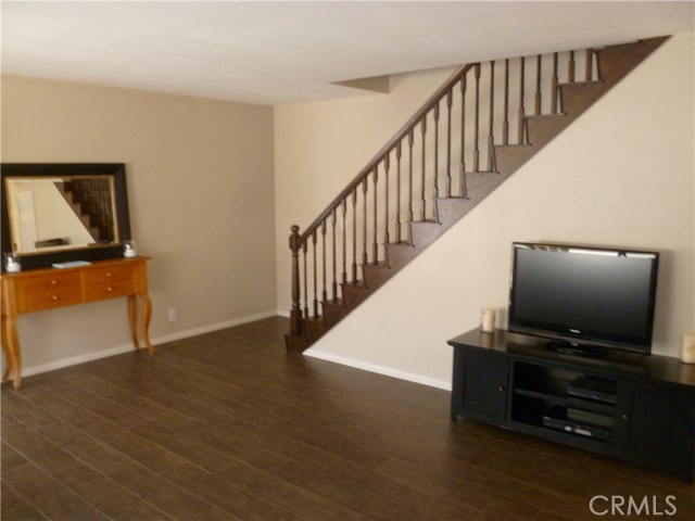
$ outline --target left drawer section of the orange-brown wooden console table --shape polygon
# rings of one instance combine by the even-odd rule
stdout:
[[[28,313],[78,304],[81,301],[79,274],[51,274],[17,280],[17,312]]]

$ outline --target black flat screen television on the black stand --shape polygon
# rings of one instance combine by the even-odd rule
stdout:
[[[510,332],[579,355],[650,354],[657,252],[521,242],[511,250]]]

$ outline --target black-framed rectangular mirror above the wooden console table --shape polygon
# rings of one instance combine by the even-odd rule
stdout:
[[[23,270],[123,256],[130,240],[124,164],[3,163],[0,177],[2,253],[14,253]]]

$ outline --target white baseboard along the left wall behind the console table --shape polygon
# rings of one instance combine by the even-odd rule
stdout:
[[[210,326],[203,326],[200,328],[188,329],[186,331],[178,331],[172,334],[165,334],[150,339],[152,345],[165,344],[167,342],[174,342],[176,340],[188,339],[190,336],[197,336],[199,334],[211,333],[213,331],[219,331],[220,329],[233,328],[235,326],[241,326],[243,323],[254,322],[264,318],[270,318],[277,316],[277,312],[265,312],[256,315],[249,315],[247,317],[233,318],[224,322],[212,323]],[[30,366],[22,368],[22,377],[30,377],[33,374],[39,374],[41,372],[54,371],[55,369],[62,369],[64,367],[76,366],[78,364],[85,364],[86,361],[98,360],[100,358],[106,358],[109,356],[121,355],[132,351],[132,344],[118,345],[116,347],[110,347],[108,350],[97,351],[93,353],[85,353],[84,355],[72,356],[70,358],[61,358],[60,360],[50,361],[48,364],[40,364],[38,366]]]

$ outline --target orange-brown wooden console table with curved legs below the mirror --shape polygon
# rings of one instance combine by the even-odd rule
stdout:
[[[74,268],[2,274],[2,351],[7,361],[2,381],[7,382],[10,372],[13,372],[14,387],[18,389],[22,384],[22,355],[16,318],[23,313],[127,296],[130,335],[137,350],[139,297],[142,301],[142,340],[152,354],[154,348],[149,338],[152,304],[148,293],[147,260],[149,257],[116,258]]]

